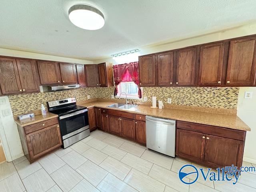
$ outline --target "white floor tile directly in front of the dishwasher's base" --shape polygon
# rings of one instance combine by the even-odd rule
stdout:
[[[145,150],[141,158],[146,159],[154,164],[157,164],[169,170],[171,169],[173,162],[173,158],[162,155],[158,152],[154,152],[152,150]]]

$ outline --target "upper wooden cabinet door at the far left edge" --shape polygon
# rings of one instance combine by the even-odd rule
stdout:
[[[0,58],[0,85],[2,94],[22,92],[16,60]]]

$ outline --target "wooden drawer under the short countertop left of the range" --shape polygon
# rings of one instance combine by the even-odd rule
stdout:
[[[56,125],[56,124],[59,124],[57,117],[46,120],[46,121],[42,121],[39,123],[35,123],[32,125],[25,126],[24,131],[25,131],[25,134],[29,134],[29,133],[44,129],[46,127],[52,126],[52,125]]]

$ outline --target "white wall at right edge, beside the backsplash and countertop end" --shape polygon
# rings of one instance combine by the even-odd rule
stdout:
[[[245,99],[244,92],[252,92],[252,99]],[[256,164],[256,87],[241,87],[238,95],[237,115],[250,128],[246,133],[244,161]]]

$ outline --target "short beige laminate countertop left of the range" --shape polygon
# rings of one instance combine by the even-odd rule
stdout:
[[[56,117],[58,117],[58,115],[47,112],[46,115],[35,114],[35,116],[33,118],[24,119],[24,120],[19,120],[19,119],[14,118],[14,121],[19,126],[24,127],[24,126],[32,125],[32,124],[46,121],[46,120],[56,118]]]

